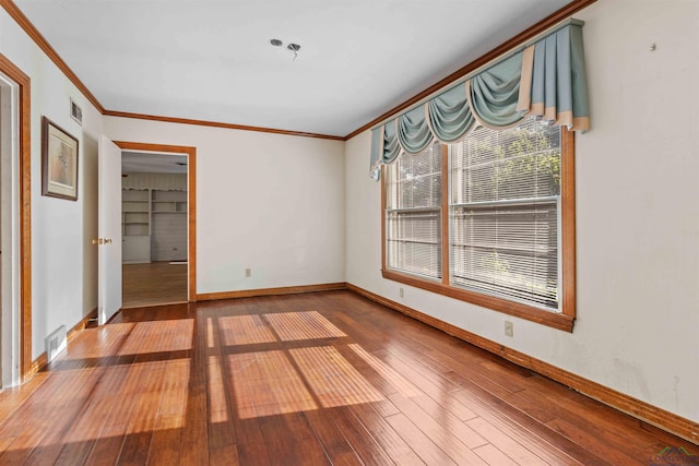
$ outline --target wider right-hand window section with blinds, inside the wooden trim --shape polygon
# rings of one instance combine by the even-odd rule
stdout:
[[[557,310],[559,129],[481,127],[450,154],[452,285]]]

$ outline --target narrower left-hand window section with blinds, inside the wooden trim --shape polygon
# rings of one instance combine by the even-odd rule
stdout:
[[[402,154],[387,167],[387,266],[441,277],[441,151]]]

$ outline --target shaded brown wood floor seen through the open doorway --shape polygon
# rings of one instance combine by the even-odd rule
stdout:
[[[187,302],[187,264],[125,264],[121,274],[125,309]]]

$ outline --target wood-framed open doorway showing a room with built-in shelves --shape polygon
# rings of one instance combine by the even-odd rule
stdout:
[[[193,301],[193,147],[116,142],[122,167],[122,309]]]

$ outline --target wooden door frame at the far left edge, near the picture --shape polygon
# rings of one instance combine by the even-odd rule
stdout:
[[[19,226],[20,226],[20,382],[38,367],[32,365],[32,139],[31,81],[14,63],[0,53],[0,72],[19,91]]]

